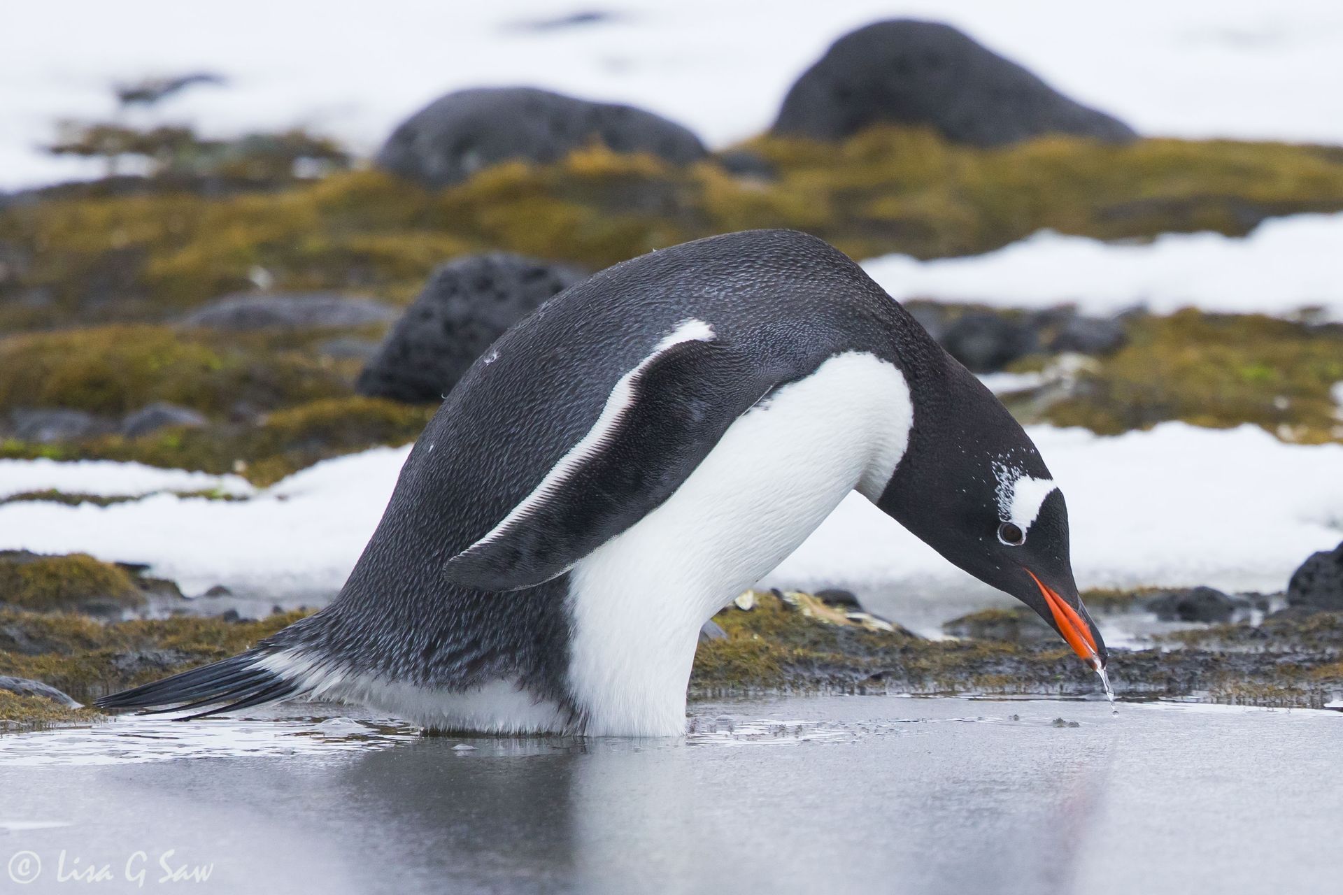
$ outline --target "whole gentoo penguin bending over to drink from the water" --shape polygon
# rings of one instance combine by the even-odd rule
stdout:
[[[548,301],[449,393],[329,607],[98,704],[676,735],[702,623],[851,490],[1104,667],[1021,425],[849,258],[753,231]]]

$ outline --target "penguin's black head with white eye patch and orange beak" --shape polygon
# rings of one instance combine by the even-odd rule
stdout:
[[[955,362],[952,362],[955,364]],[[913,401],[905,455],[877,506],[937,553],[1034,609],[1103,668],[1105,644],[1077,593],[1068,505],[1025,429],[959,365]]]

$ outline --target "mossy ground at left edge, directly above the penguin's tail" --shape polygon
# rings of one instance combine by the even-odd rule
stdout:
[[[243,623],[176,616],[99,625],[77,615],[0,609],[0,675],[42,680],[91,703],[242,652],[305,615],[277,613]]]

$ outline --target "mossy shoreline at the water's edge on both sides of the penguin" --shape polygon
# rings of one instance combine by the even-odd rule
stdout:
[[[261,621],[177,616],[101,624],[81,615],[0,609],[0,675],[31,678],[79,702],[224,659],[302,617]],[[693,699],[768,692],[1097,695],[1096,675],[1061,641],[924,640],[808,616],[770,594],[714,620],[727,637],[702,643]],[[1115,649],[1121,696],[1197,698],[1319,707],[1343,691],[1343,615],[1213,625],[1170,635],[1179,648]],[[48,700],[0,694],[0,722],[78,721]]]

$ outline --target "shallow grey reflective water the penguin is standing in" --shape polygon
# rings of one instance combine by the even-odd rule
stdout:
[[[169,849],[212,865],[177,887],[212,892],[1185,895],[1343,872],[1331,711],[787,698],[697,704],[684,741],[314,711],[0,737],[0,864],[40,863],[26,892],[172,888]]]

